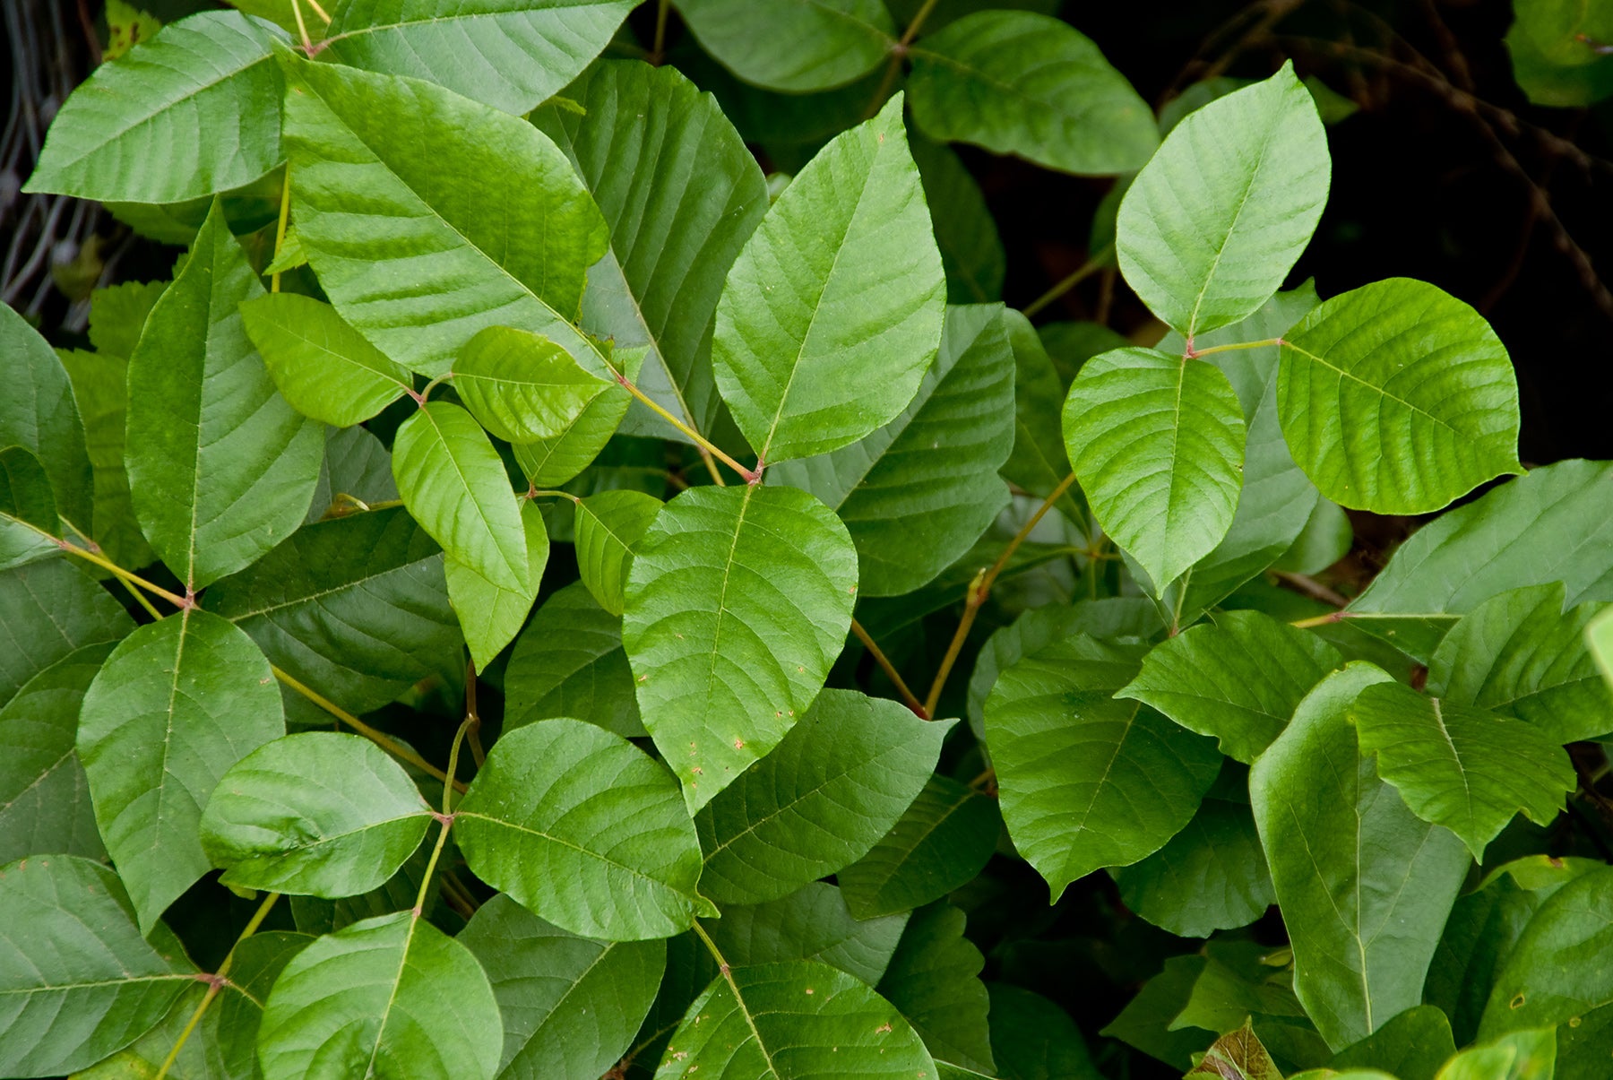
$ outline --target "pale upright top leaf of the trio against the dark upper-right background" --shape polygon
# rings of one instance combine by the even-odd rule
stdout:
[[[1292,65],[1189,115],[1119,205],[1116,253],[1144,303],[1194,341],[1255,313],[1310,242],[1332,165]]]

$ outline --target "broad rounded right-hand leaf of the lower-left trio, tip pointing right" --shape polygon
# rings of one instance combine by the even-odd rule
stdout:
[[[455,809],[455,838],[479,878],[573,933],[666,938],[708,907],[671,775],[582,720],[503,735]]]

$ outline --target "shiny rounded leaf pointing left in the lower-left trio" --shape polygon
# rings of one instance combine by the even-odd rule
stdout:
[[[379,888],[431,820],[415,781],[379,746],[308,731],[224,773],[202,814],[202,849],[223,867],[223,885],[336,899]]]

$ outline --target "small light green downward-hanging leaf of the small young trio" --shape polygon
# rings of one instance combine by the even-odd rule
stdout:
[[[392,476],[403,505],[448,557],[490,584],[524,592],[526,526],[510,476],[482,426],[448,402],[426,402],[398,428]]]

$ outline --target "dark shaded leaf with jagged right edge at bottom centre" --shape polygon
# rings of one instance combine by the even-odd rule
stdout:
[[[990,998],[979,978],[986,957],[963,936],[965,922],[947,902],[913,912],[879,990],[934,1057],[989,1074],[995,1070],[986,1023]]]

